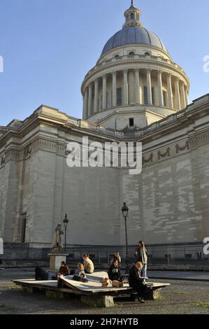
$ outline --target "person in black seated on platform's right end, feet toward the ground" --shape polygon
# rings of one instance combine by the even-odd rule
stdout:
[[[141,303],[144,303],[147,286],[145,284],[144,279],[140,276],[142,269],[143,269],[142,262],[136,262],[136,264],[133,267],[131,267],[131,270],[129,273],[129,286],[134,288],[134,290],[137,291],[138,301]]]

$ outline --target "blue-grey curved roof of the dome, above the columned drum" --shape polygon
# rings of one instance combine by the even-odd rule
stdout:
[[[104,46],[101,55],[122,45],[152,45],[168,52],[164,43],[154,32],[135,26],[125,27],[115,33]]]

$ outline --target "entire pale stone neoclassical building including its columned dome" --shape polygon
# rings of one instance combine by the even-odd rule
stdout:
[[[189,79],[131,6],[85,76],[83,117],[40,106],[0,127],[0,237],[51,245],[64,214],[71,246],[202,241],[209,236],[209,94],[189,104]],[[140,141],[143,170],[69,168],[67,145]]]

